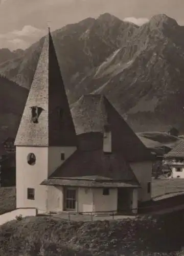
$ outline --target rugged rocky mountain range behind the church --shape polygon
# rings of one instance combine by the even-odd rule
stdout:
[[[103,93],[135,132],[184,132],[184,27],[176,20],[159,14],[138,27],[105,13],[52,34],[71,108],[83,94]],[[7,115],[17,108],[12,94],[26,101],[43,41],[25,51],[0,50],[0,74],[12,85],[9,92],[0,79]]]

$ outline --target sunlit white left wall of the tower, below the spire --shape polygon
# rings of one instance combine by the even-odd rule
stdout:
[[[36,162],[29,165],[27,156],[34,153]],[[16,146],[16,207],[46,209],[47,187],[40,183],[48,177],[48,147]],[[27,189],[35,189],[35,199],[27,198]]]

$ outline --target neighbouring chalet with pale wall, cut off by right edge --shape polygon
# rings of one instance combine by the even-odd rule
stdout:
[[[170,167],[170,178],[184,178],[184,140],[165,155],[164,165]]]

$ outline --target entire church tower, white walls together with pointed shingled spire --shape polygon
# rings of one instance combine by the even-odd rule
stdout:
[[[22,114],[16,146],[16,207],[47,210],[47,187],[40,183],[77,149],[77,136],[49,33],[38,60]]]

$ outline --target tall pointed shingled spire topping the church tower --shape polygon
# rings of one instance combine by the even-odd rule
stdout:
[[[77,137],[50,28],[17,132],[17,146],[76,146]]]

